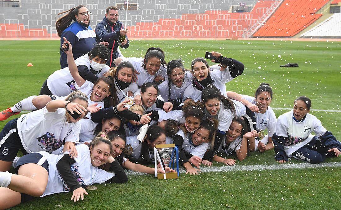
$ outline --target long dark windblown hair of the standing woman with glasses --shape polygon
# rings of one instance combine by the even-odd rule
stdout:
[[[56,15],[56,17],[58,15],[67,13],[65,15],[63,15],[62,17],[58,18],[58,20],[56,20],[56,30],[58,33],[58,36],[61,37],[62,32],[69,27],[69,25],[71,24],[72,20],[76,21],[76,17],[75,15],[77,15],[79,13],[79,9],[82,7],[86,7],[84,5],[78,5],[74,8],[71,8],[70,10],[66,10],[64,12],[58,13]]]

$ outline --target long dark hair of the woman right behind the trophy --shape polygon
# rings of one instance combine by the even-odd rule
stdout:
[[[140,153],[140,158],[138,159],[138,162],[141,164],[147,164],[148,162],[148,150],[149,150],[149,142],[154,142],[157,140],[162,134],[166,135],[166,132],[162,127],[158,125],[151,125],[148,128],[147,131],[147,139],[145,139],[144,142],[142,142],[142,148]]]

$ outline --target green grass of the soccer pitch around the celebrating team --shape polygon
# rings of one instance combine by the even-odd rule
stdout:
[[[46,78],[59,70],[59,41],[0,41],[0,109],[39,94]],[[276,116],[287,112],[300,95],[312,100],[311,111],[338,140],[341,139],[340,42],[259,40],[133,40],[126,57],[143,56],[149,47],[161,47],[166,61],[181,58],[190,68],[193,58],[215,50],[245,65],[244,73],[227,83],[227,90],[253,95],[262,82],[273,89],[271,107]],[[32,63],[33,67],[27,67]],[[209,62],[210,63],[210,62]],[[298,68],[279,67],[298,63]],[[282,109],[281,109],[282,108]],[[0,122],[2,128],[13,116]],[[274,152],[251,154],[237,165],[278,165]],[[236,159],[236,158],[235,158]],[[123,185],[96,185],[85,201],[73,204],[71,193],[36,199],[18,209],[335,209],[341,190],[341,158],[328,158],[323,168],[267,169],[181,174],[177,180],[130,175]],[[336,162],[336,163],[334,163]],[[300,163],[291,160],[291,163]],[[289,163],[289,165],[291,164]],[[334,165],[333,165],[334,164]],[[222,164],[214,164],[222,166]],[[0,195],[1,196],[1,195]]]

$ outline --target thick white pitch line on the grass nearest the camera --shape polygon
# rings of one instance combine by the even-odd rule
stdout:
[[[263,171],[263,170],[281,170],[281,169],[311,169],[311,168],[330,168],[341,167],[341,162],[333,163],[287,163],[287,164],[275,164],[275,165],[235,165],[235,166],[220,166],[220,167],[202,167],[201,173],[207,172],[233,172],[233,171]],[[183,174],[186,171],[180,169],[180,173]],[[132,170],[126,171],[127,175],[146,175],[145,173],[135,172]]]

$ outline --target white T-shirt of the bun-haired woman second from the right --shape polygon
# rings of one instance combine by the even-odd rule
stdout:
[[[241,95],[241,97],[252,104],[256,104],[256,99],[249,95]],[[268,129],[268,136],[272,137],[272,135],[276,132],[276,115],[275,112],[268,106],[266,112],[262,113],[255,113],[256,122],[257,122],[257,130],[265,130]]]

